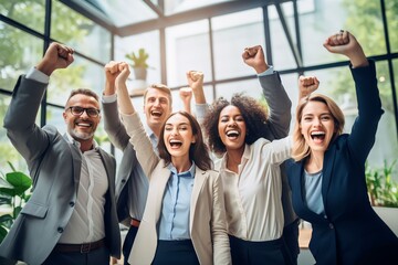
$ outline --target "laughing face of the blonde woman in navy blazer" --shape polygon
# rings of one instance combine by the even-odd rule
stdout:
[[[300,128],[311,152],[325,152],[336,132],[333,115],[322,102],[308,102],[303,108]]]

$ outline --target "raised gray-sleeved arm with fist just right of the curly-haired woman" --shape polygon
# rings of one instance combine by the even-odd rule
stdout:
[[[287,136],[292,119],[290,100],[277,72],[266,63],[260,45],[247,47],[242,53],[245,64],[251,66],[259,76],[261,87],[270,110],[265,138],[281,139]]]

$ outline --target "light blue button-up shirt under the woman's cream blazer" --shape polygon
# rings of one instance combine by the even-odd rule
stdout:
[[[189,240],[190,201],[195,181],[195,163],[188,171],[177,173],[170,163],[171,172],[163,199],[161,216],[158,223],[159,240]]]

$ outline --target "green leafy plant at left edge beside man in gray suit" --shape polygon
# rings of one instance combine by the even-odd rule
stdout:
[[[23,172],[17,171],[11,162],[8,162],[11,172],[0,176],[0,243],[8,234],[22,206],[30,198],[32,179]]]

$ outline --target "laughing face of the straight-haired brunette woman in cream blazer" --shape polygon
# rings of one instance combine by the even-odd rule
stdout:
[[[189,119],[180,114],[172,115],[166,121],[164,141],[171,159],[189,159],[189,148],[196,142]]]

